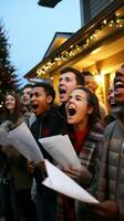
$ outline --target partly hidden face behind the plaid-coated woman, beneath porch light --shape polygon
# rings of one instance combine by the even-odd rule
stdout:
[[[84,78],[85,78],[85,84],[84,84],[84,86],[85,86],[86,88],[89,88],[90,92],[92,92],[92,93],[95,94],[95,91],[96,91],[96,88],[97,88],[97,84],[96,84],[94,77],[91,76],[91,75],[87,75],[87,76],[84,76]]]

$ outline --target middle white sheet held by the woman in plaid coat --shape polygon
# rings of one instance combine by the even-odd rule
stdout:
[[[80,159],[68,135],[46,137],[39,139],[39,141],[59,165],[81,169]]]

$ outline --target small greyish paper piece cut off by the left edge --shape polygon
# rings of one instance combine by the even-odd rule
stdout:
[[[0,145],[8,146],[10,145],[10,139],[8,137],[8,131],[3,128],[0,128]]]

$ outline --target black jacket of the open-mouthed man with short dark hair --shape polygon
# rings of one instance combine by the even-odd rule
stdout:
[[[44,159],[49,159],[51,162],[53,159],[39,143],[39,138],[59,135],[63,127],[63,117],[60,115],[58,107],[52,106],[45,114],[38,116],[31,125],[31,133],[38,143]],[[41,181],[41,175],[39,175],[38,171],[35,171],[34,177],[37,182]]]

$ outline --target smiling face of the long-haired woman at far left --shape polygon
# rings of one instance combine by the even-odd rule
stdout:
[[[6,108],[10,113],[13,113],[14,107],[16,107],[16,98],[12,95],[7,95],[7,97],[6,97]]]

